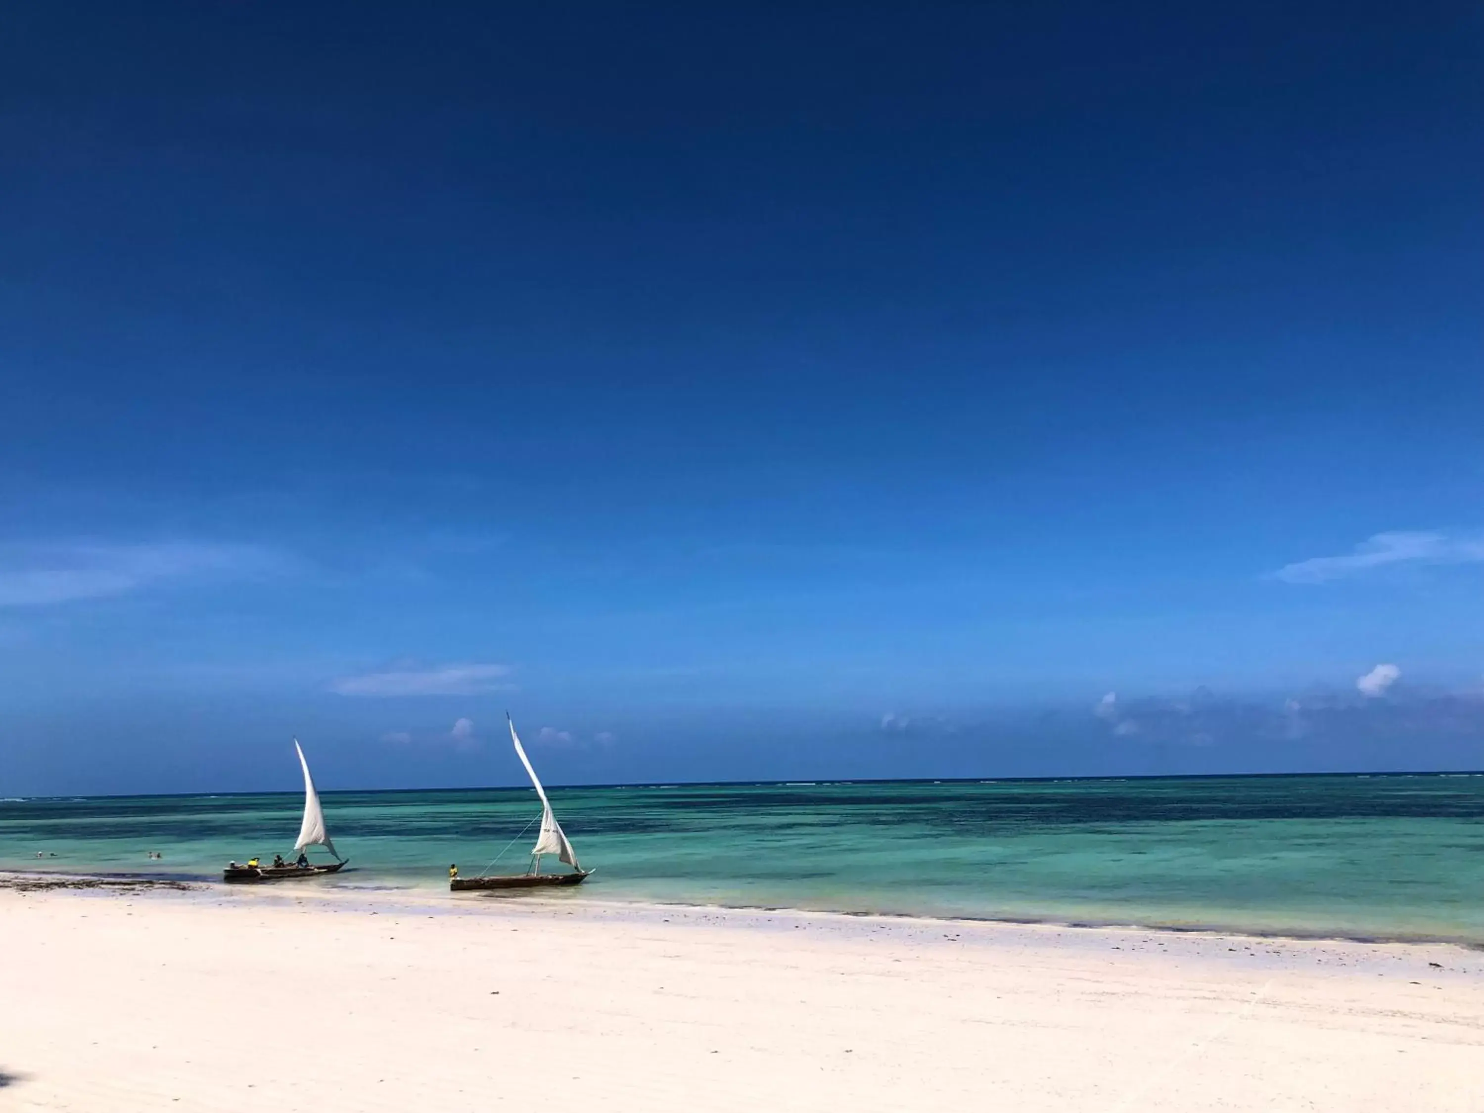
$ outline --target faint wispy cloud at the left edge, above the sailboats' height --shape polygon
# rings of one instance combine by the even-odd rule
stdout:
[[[261,576],[286,565],[280,554],[252,545],[7,545],[0,546],[0,607],[99,600],[166,582]]]

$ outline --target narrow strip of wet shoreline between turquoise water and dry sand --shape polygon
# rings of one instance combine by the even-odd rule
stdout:
[[[389,908],[399,907],[441,907],[445,901],[448,908],[484,908],[496,914],[506,907],[549,907],[567,908],[579,905],[583,908],[611,910],[644,910],[651,913],[703,913],[715,916],[778,916],[778,917],[809,917],[809,919],[838,919],[843,922],[883,922],[914,925],[971,925],[988,929],[994,928],[1024,928],[1052,929],[1066,932],[1122,932],[1122,933],[1158,933],[1172,938],[1209,938],[1209,939],[1251,939],[1258,942],[1288,942],[1288,944],[1347,944],[1356,947],[1453,947],[1471,954],[1484,954],[1484,942],[1450,938],[1439,935],[1359,935],[1343,932],[1285,932],[1260,930],[1244,928],[1227,928],[1221,925],[1168,925],[1168,923],[1138,923],[1138,922],[1094,922],[1094,920],[1058,920],[1037,917],[988,917],[988,916],[938,916],[928,913],[890,913],[890,911],[843,911],[838,908],[797,908],[791,905],[749,905],[749,904],[696,904],[690,901],[650,901],[650,899],[614,899],[594,898],[582,892],[564,893],[463,893],[451,895],[435,886],[358,886],[346,884],[344,879],[329,883],[307,881],[298,886],[263,884],[263,886],[227,886],[220,880],[202,879],[197,876],[159,874],[159,873],[68,873],[59,870],[0,870],[0,892],[30,890],[30,892],[181,892],[194,893],[202,898],[212,895],[229,895],[233,899],[264,899],[275,901],[285,896],[295,899],[362,899],[374,902],[372,895],[381,895]],[[396,898],[402,898],[398,901]]]

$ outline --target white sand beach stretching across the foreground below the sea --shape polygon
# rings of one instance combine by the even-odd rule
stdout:
[[[0,1110],[1484,1109],[1484,954],[0,890]]]

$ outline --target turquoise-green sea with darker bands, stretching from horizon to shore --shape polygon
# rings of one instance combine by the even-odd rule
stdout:
[[[326,792],[313,884],[441,887],[528,789]],[[1484,775],[558,788],[601,899],[1137,923],[1484,945]],[[288,853],[301,797],[0,801],[0,868],[220,877]],[[534,828],[502,859],[519,871]],[[47,856],[37,859],[36,852]],[[163,853],[150,861],[148,850]]]

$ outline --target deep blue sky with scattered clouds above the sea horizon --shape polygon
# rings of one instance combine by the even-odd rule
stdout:
[[[7,10],[0,794],[1484,764],[1484,16],[1206,9]]]

